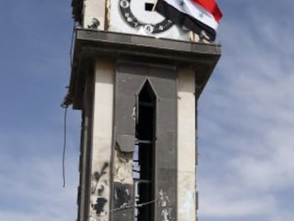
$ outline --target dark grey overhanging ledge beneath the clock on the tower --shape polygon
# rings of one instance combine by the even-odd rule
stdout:
[[[221,56],[221,45],[77,28],[70,76],[70,102],[74,109],[82,109],[85,80],[94,60],[106,56],[117,61],[131,59],[193,68],[195,95],[199,97]]]

